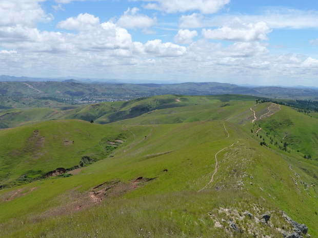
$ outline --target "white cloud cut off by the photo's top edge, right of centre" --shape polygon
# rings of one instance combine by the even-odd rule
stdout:
[[[136,0],[135,0],[136,1]],[[147,9],[155,9],[167,13],[199,10],[203,14],[215,13],[228,4],[230,0],[141,0],[149,3]]]

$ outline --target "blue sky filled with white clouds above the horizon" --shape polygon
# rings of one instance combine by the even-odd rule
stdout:
[[[1,0],[0,75],[318,86],[316,0]]]

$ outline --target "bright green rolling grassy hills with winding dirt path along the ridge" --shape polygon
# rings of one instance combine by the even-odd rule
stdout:
[[[317,119],[254,99],[156,96],[1,130],[3,236],[318,236]]]

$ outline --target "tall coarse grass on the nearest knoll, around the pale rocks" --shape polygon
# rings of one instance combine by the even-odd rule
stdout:
[[[229,190],[188,191],[109,199],[89,210],[49,219],[15,219],[4,224],[2,234],[6,237],[229,237],[231,232],[215,227],[216,220],[227,219],[225,213],[215,210],[220,207],[241,214],[247,210],[254,212],[257,207],[259,213],[271,212],[276,226],[284,224],[279,209],[249,194]],[[254,215],[260,214],[254,212]],[[247,218],[244,220],[249,222]],[[241,223],[242,231],[236,237],[253,237],[248,229],[279,234],[274,227],[257,224],[248,228]]]

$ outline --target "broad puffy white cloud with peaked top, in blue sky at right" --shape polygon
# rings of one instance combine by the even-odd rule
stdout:
[[[202,35],[208,39],[220,39],[230,41],[255,41],[267,40],[266,34],[271,32],[264,21],[256,24],[243,23],[240,18],[234,18],[222,28],[203,29]]]

